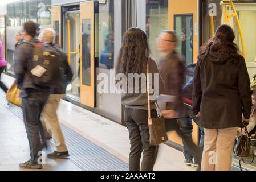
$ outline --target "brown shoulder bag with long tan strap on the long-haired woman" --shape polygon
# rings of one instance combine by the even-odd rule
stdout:
[[[157,118],[151,118],[150,99],[149,99],[149,75],[148,75],[148,63],[147,63],[147,92],[148,92],[148,128],[149,128],[149,141],[151,146],[157,146],[168,140],[164,116],[159,109],[159,105],[156,102],[157,109],[160,116]]]

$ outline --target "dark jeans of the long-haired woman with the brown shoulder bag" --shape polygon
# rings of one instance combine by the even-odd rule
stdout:
[[[151,117],[157,117],[156,110],[151,110]],[[148,110],[125,108],[124,118],[129,131],[130,171],[152,171],[156,162],[158,146],[149,144],[148,129]],[[143,160],[140,168],[141,152],[143,151]]]

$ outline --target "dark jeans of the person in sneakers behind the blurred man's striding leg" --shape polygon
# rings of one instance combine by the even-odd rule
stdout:
[[[190,117],[178,118],[178,125],[180,126],[181,131],[184,134],[184,137],[192,139],[192,131],[193,131],[192,119]],[[183,138],[182,138],[182,143],[183,143],[183,154],[185,159],[192,160],[193,155],[189,153],[188,146],[186,146],[186,142]]]

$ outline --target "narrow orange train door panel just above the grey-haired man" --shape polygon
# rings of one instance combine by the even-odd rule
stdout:
[[[51,28],[56,31],[60,46],[62,45],[61,12],[60,6],[51,7]]]

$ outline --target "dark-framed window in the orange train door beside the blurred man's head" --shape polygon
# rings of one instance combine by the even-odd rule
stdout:
[[[193,27],[193,14],[174,15],[174,30],[178,36],[176,51],[187,65],[193,63]]]

